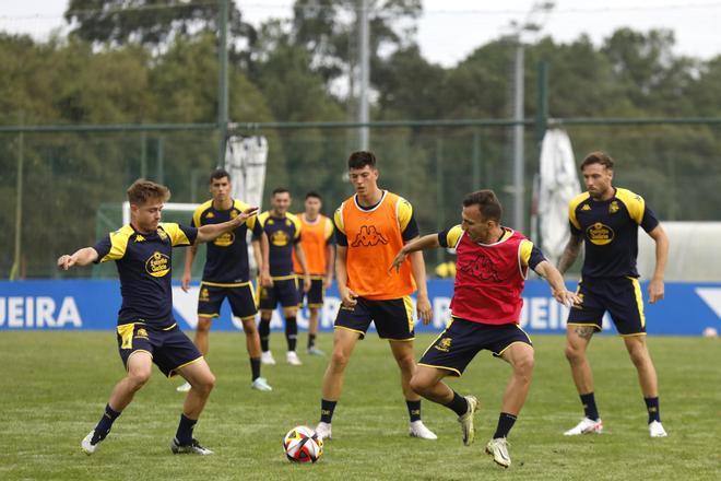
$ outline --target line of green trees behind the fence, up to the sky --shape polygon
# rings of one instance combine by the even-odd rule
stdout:
[[[239,124],[345,121],[356,104],[356,2],[298,0],[291,20],[245,21],[229,1],[229,117]],[[446,68],[415,39],[419,0],[370,2],[373,120],[500,119],[511,113],[515,46],[478,46]],[[70,0],[68,35],[48,42],[0,33],[0,126],[212,124],[217,118],[216,2]],[[594,45],[545,37],[525,49],[527,118],[536,113],[536,70],[549,70],[549,115],[564,117],[721,117],[721,56],[674,52],[672,32],[620,28]],[[667,220],[716,220],[720,127],[569,126],[578,156],[606,150],[620,184]],[[527,129],[529,186],[537,144]],[[296,199],[316,189],[330,211],[350,193],[344,163],[356,146],[346,129],[248,130],[270,144],[267,190]],[[492,127],[371,129],[382,185],[416,207],[423,231],[452,224],[462,195],[499,191],[510,208],[510,132]],[[0,244],[13,245],[17,133],[0,133]],[[144,174],[162,178],[175,201],[202,200],[216,163],[216,132],[27,133],[23,138],[25,273],[46,275],[56,254],[97,235],[103,202],[123,200]],[[31,208],[39,203],[38,209]],[[300,203],[296,203],[300,208]],[[111,222],[109,222],[111,223]],[[11,249],[0,255],[0,277]]]

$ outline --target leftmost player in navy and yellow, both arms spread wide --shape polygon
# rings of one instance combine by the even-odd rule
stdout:
[[[102,238],[94,247],[58,258],[58,268],[62,270],[115,260],[120,277],[122,305],[118,313],[117,340],[127,374],[113,389],[101,421],[81,443],[87,455],[97,449],[113,422],[147,383],[153,363],[166,376],[179,374],[192,386],[170,443],[173,453],[213,453],[193,438],[192,431],[215,385],[215,377],[173,317],[170,250],[233,232],[255,215],[258,208],[247,208],[222,224],[186,227],[161,223],[161,211],[169,197],[167,187],[137,180],[128,189],[130,224]]]

